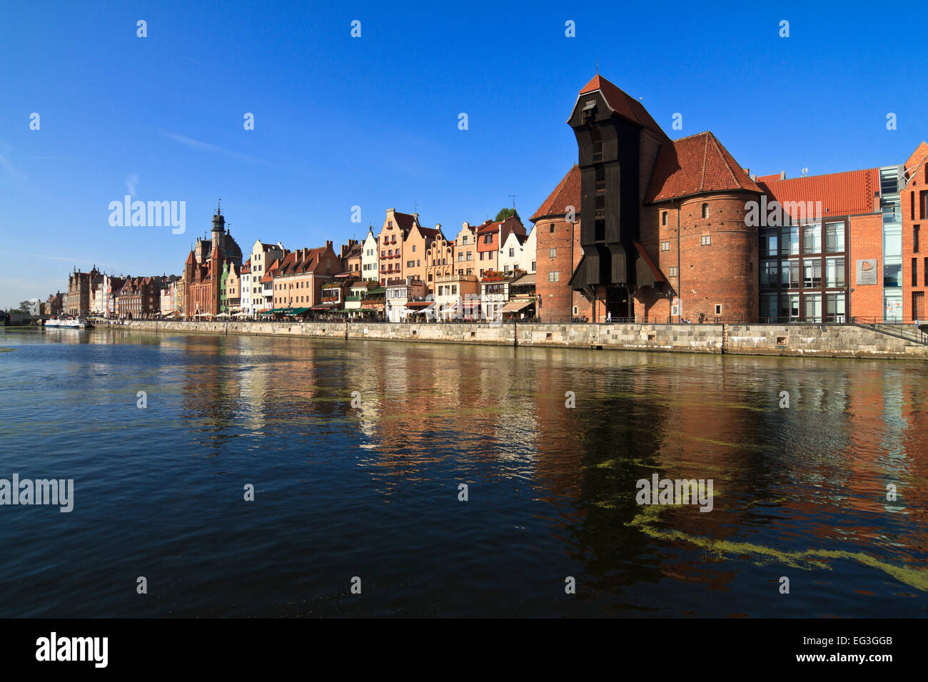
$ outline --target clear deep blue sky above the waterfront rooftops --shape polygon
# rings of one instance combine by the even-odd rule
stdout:
[[[901,163],[928,137],[924,6],[625,5],[5,3],[0,307],[75,265],[180,274],[220,196],[243,251],[363,238],[417,204],[454,236],[510,194],[527,223],[576,161],[565,121],[597,63],[752,173]],[[186,233],[110,226],[130,186],[186,201]]]

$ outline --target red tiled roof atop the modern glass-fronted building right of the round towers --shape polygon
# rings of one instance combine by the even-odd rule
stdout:
[[[769,180],[761,188],[780,204],[821,201],[822,215],[830,217],[872,213],[874,194],[880,191],[880,169]]]

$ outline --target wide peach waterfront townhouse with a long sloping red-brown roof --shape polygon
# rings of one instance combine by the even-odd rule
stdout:
[[[274,308],[311,308],[321,300],[322,285],[342,272],[332,242],[316,249],[298,249],[280,261],[274,274]]]

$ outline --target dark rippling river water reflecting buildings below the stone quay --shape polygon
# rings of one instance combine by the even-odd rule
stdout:
[[[7,328],[0,424],[0,616],[928,615],[928,364]]]

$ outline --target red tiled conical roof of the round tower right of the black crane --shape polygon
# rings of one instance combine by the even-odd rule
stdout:
[[[661,146],[645,201],[664,201],[704,192],[760,192],[728,149],[709,132]]]

